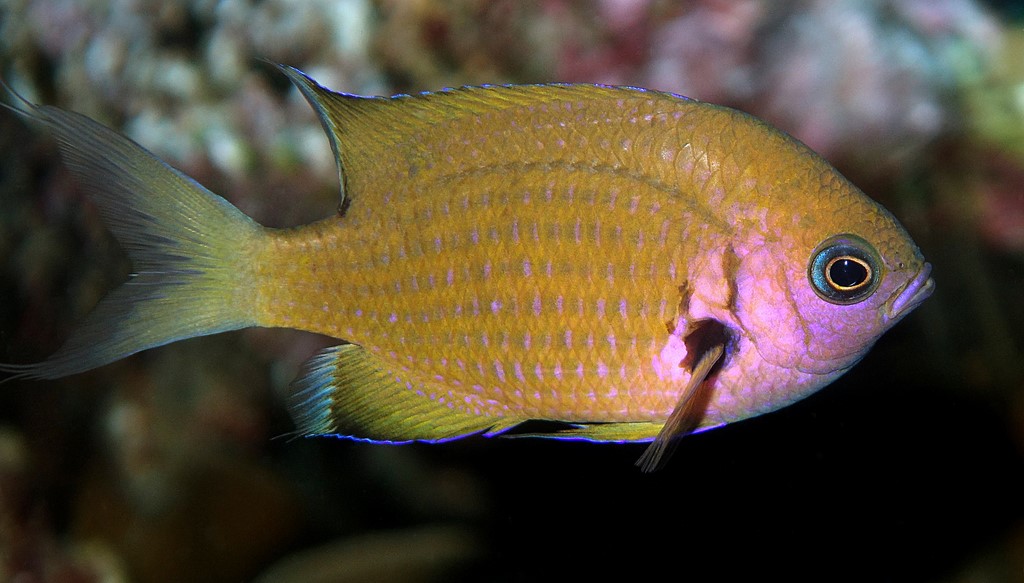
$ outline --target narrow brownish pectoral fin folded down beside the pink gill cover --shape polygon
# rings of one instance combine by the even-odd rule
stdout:
[[[662,430],[637,460],[641,470],[650,472],[659,468],[669,459],[676,439],[700,426],[714,390],[711,373],[725,356],[728,342],[725,327],[711,320],[695,323],[686,335],[689,350],[680,366],[690,367],[692,372]]]

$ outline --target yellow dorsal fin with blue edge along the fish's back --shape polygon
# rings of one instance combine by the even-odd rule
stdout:
[[[338,162],[342,202],[354,192],[381,188],[381,180],[403,179],[435,168],[451,172],[466,170],[474,160],[459,151],[454,162],[449,154],[469,149],[474,140],[495,137],[516,160],[544,163],[585,160],[614,163],[621,154],[613,148],[580,151],[537,144],[579,137],[594,123],[621,123],[625,119],[650,118],[681,109],[715,108],[670,93],[630,87],[586,84],[483,85],[444,89],[415,95],[364,97],[332,91],[298,69],[279,66],[316,111]],[[514,112],[510,112],[514,110]],[[584,115],[584,110],[589,112]],[[503,116],[504,114],[504,116]],[[445,125],[442,130],[438,126]],[[666,135],[665,138],[671,138]],[[532,147],[532,151],[530,148]],[[498,150],[481,153],[475,162],[497,164]],[[564,158],[564,160],[560,160]]]

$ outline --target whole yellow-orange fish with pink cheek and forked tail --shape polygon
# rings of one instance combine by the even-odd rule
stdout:
[[[5,106],[56,137],[132,262],[8,380],[291,328],[338,339],[293,383],[297,435],[648,443],[651,471],[829,384],[935,287],[889,211],[739,111],[592,84],[368,97],[278,68],[340,182],[337,212],[290,228],[88,117]]]

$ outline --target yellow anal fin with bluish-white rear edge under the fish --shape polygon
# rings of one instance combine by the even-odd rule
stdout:
[[[293,385],[292,416],[301,435],[338,435],[380,443],[443,442],[495,435],[519,419],[475,415],[431,392],[446,389],[406,380],[357,344],[324,349]]]

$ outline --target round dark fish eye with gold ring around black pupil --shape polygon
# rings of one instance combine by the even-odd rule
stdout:
[[[839,235],[817,246],[807,276],[821,299],[850,304],[863,301],[879,287],[881,265],[869,243],[855,235]]]

